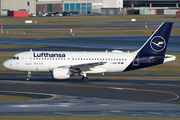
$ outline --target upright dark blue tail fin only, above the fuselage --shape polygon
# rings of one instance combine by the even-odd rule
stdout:
[[[147,42],[138,50],[138,54],[161,54],[166,52],[169,36],[172,29],[172,22],[164,22],[154,32]]]

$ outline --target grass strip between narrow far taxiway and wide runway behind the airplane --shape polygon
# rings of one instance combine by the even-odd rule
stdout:
[[[144,32],[154,32],[157,27],[120,27],[120,28],[73,28],[75,36],[120,36],[120,35],[145,35]],[[7,34],[8,30],[8,34]],[[24,29],[26,34],[21,34],[21,29],[4,29],[0,37],[60,37],[67,36],[69,28],[49,29]],[[14,34],[15,31],[15,34]],[[178,35],[180,27],[173,27],[171,35]]]

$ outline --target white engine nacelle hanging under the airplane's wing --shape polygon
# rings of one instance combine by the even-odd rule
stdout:
[[[53,68],[52,75],[54,79],[67,79],[70,78],[71,72],[67,68]]]

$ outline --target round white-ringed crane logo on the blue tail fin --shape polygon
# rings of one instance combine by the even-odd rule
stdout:
[[[150,46],[155,52],[161,52],[166,47],[166,41],[161,36],[155,36],[152,38]]]

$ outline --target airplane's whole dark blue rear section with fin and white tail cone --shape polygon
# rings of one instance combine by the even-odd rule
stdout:
[[[146,43],[136,51],[133,61],[124,71],[159,65],[174,60],[174,56],[165,55],[172,25],[172,22],[162,23]]]

